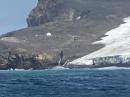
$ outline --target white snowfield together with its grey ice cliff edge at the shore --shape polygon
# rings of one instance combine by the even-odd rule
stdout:
[[[104,44],[105,47],[90,53],[84,57],[69,62],[68,65],[117,65],[130,63],[130,17],[123,19],[123,24],[108,31],[105,37],[92,44]]]

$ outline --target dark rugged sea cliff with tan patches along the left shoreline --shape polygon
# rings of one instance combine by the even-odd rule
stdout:
[[[57,66],[53,55],[40,52],[29,54],[23,48],[10,49],[0,54],[0,69],[47,69]]]

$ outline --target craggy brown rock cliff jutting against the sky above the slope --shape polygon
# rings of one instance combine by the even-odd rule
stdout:
[[[80,8],[79,3],[81,3],[79,0],[38,0],[37,7],[27,18],[28,26],[86,18],[90,11],[83,5]]]

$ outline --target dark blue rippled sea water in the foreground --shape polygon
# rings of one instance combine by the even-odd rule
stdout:
[[[0,71],[0,97],[130,97],[130,70]]]

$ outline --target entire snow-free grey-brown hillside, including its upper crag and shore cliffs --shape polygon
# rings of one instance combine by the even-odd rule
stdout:
[[[0,68],[44,69],[103,48],[92,44],[130,16],[129,0],[38,0],[29,28],[0,37]],[[35,27],[34,27],[35,26]],[[14,66],[11,66],[14,64]]]

